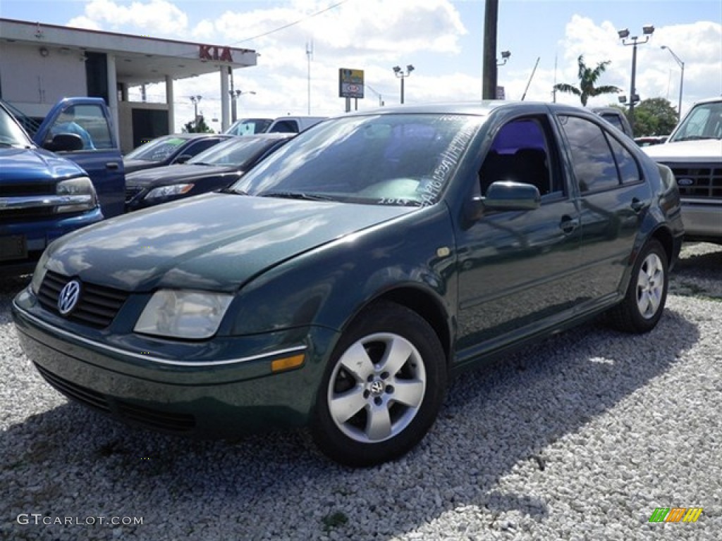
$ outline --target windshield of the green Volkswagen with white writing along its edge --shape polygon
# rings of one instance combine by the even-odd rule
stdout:
[[[232,186],[237,193],[425,206],[438,201],[484,118],[395,114],[328,120]]]

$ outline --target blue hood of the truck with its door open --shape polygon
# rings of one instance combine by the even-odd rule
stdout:
[[[0,148],[0,182],[48,182],[86,175],[75,162],[35,148]]]

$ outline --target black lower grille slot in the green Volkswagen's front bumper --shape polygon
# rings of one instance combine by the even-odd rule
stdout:
[[[69,382],[67,379],[44,369],[43,366],[35,364],[35,368],[38,369],[46,382],[66,395],[66,397],[87,405],[94,410],[116,416],[126,423],[139,424],[152,430],[173,432],[175,434],[192,431],[196,427],[196,418],[193,415],[154,410],[124,400],[105,397],[100,392]]]

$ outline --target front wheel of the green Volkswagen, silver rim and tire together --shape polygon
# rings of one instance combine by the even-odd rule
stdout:
[[[383,302],[362,313],[339,340],[318,392],[311,427],[318,448],[349,466],[409,452],[443,402],[444,359],[416,312]]]

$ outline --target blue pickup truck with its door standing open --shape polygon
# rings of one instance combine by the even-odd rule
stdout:
[[[53,239],[121,214],[124,198],[103,99],[61,100],[32,138],[0,102],[0,275],[32,271]]]

